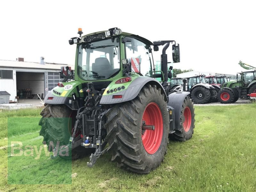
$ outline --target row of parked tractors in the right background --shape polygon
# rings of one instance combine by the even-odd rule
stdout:
[[[241,61],[240,61],[241,63]],[[245,64],[247,65],[247,64]],[[250,66],[252,67],[252,66]],[[250,99],[251,93],[256,93],[256,69],[252,68],[239,73],[241,79],[230,81],[228,76],[204,76],[184,78],[182,84],[172,85],[170,92],[190,92],[190,97],[194,103],[205,104],[208,102],[234,103],[239,98],[241,100]],[[179,78],[181,79],[181,78]],[[213,88],[215,91],[213,91]],[[216,97],[214,98],[214,96]]]

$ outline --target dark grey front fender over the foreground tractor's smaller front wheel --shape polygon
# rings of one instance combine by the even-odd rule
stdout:
[[[168,106],[174,108],[174,121],[175,121],[175,128],[174,130],[181,131],[180,128],[180,116],[181,116],[181,108],[183,101],[186,97],[189,97],[190,92],[174,92],[169,95],[169,102]]]

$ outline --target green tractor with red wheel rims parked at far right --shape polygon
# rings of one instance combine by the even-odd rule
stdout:
[[[218,100],[220,103],[234,103],[240,99],[250,99],[248,94],[256,92],[256,69],[246,70],[241,74],[241,79],[229,81],[220,84],[220,92],[218,92]]]

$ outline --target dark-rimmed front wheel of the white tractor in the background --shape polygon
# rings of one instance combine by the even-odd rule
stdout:
[[[211,94],[209,89],[203,86],[197,86],[192,89],[191,98],[192,101],[196,104],[205,104],[210,100]]]

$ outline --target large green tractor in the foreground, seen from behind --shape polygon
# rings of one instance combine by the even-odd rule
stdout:
[[[66,78],[45,97],[39,122],[43,143],[52,159],[91,154],[87,165],[92,167],[108,152],[118,167],[148,173],[163,161],[168,137],[185,141],[194,132],[189,92],[169,95],[168,90],[166,50],[174,43],[172,60],[180,62],[179,44],[152,43],[119,28],[82,33],[79,28],[80,36],[69,40],[76,44],[74,74],[63,68]],[[163,45],[161,71],[156,71],[152,52]]]

